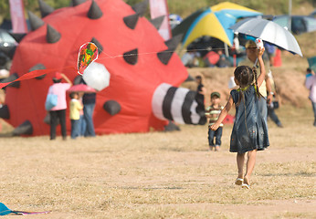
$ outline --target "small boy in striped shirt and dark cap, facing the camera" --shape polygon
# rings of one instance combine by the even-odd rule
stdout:
[[[217,130],[211,130],[211,126],[215,124],[220,112],[224,109],[224,107],[220,106],[219,103],[220,94],[218,92],[211,93],[211,105],[205,110],[205,116],[209,119],[208,145],[211,151],[213,151],[213,149],[215,149],[215,151],[219,151],[222,143],[223,123],[220,123]],[[216,138],[215,144],[214,138]]]

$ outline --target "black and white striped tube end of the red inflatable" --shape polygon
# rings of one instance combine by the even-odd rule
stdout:
[[[160,120],[174,120],[179,124],[199,124],[206,122],[205,111],[196,111],[196,92],[175,88],[163,83],[153,93],[153,114]]]

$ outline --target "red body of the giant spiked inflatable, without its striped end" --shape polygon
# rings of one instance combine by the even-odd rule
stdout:
[[[46,75],[22,80],[19,87],[6,87],[10,124],[28,124],[31,135],[47,135],[44,103],[53,72],[75,79],[78,49],[93,42],[100,52],[98,63],[111,73],[110,86],[97,93],[93,115],[96,133],[163,130],[167,122],[153,115],[153,92],[162,83],[179,86],[188,74],[180,58],[168,50],[168,43],[145,17],[121,0],[95,0],[58,9],[43,21],[45,24],[28,33],[16,48],[10,73],[22,78],[44,66],[46,69],[37,73]],[[115,115],[103,108],[110,100],[120,107]],[[69,119],[67,128],[69,131]]]

